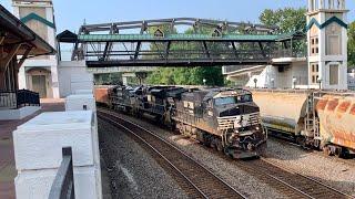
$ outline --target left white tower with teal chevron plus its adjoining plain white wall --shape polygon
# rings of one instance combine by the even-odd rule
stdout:
[[[12,0],[12,7],[23,24],[58,49],[52,0]],[[87,71],[84,61],[61,61],[59,54],[42,54],[24,61],[18,80],[19,88],[37,92],[41,98],[63,98],[78,87],[87,85],[91,90],[93,75]]]

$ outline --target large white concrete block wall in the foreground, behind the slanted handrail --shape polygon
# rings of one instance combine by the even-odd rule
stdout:
[[[48,198],[62,160],[71,147],[75,197],[101,199],[98,126],[92,111],[43,113],[13,132],[18,199]]]

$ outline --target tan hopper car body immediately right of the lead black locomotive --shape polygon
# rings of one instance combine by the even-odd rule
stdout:
[[[263,125],[268,129],[301,134],[306,116],[307,92],[252,91],[261,111]]]

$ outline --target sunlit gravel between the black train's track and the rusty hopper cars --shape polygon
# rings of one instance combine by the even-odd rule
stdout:
[[[355,167],[336,158],[311,153],[276,138],[267,142],[267,159],[342,190],[355,198]]]

